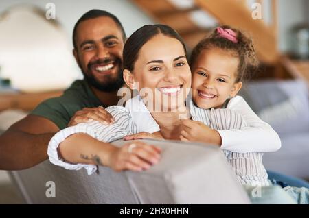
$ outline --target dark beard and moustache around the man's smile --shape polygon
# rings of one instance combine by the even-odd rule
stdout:
[[[87,66],[88,71],[91,71],[91,65],[93,64],[102,64],[110,62],[111,60],[98,60],[96,62],[89,63]],[[115,58],[115,65],[122,66],[122,61],[119,58]],[[115,66],[115,67],[117,67]],[[109,75],[106,75],[106,81],[100,82],[95,79],[94,75],[91,75],[89,73],[85,73],[82,71],[82,74],[84,75],[84,79],[93,87],[97,88],[100,91],[111,93],[113,91],[119,90],[119,88],[122,88],[124,86],[124,78],[121,67],[119,67],[119,71],[117,73],[117,77],[111,78]]]

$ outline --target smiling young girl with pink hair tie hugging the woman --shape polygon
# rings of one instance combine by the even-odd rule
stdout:
[[[261,147],[269,145],[263,138],[268,140],[272,135],[276,138],[277,134],[250,112],[251,109],[242,97],[236,96],[242,88],[242,79],[246,73],[253,73],[258,66],[251,39],[237,29],[217,27],[196,45],[190,65],[193,102],[190,101],[189,105],[194,121],[183,121],[185,128],[181,132],[181,140],[209,143],[209,138],[205,137],[211,137],[209,128],[217,130],[221,138],[219,145],[241,184],[268,186],[270,183],[262,164],[262,152],[267,152],[267,148],[265,151],[257,151],[251,144],[256,140]],[[211,110],[203,110],[209,108]],[[260,123],[260,127],[255,122]],[[250,127],[254,128],[251,129],[253,132],[263,128],[263,134],[257,134],[261,138],[242,134],[242,130]],[[239,133],[239,138],[236,138],[235,132]],[[216,137],[215,134],[212,136]],[[231,145],[226,147],[225,139],[235,143],[246,141],[247,149],[233,149]]]

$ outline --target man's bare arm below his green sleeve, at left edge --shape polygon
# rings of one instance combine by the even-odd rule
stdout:
[[[20,170],[47,159],[47,146],[58,126],[35,115],[27,115],[0,136],[0,169]]]

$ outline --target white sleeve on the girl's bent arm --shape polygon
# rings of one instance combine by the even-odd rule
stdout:
[[[240,153],[275,152],[281,147],[277,132],[262,121],[242,97],[233,97],[227,108],[238,112],[248,127],[241,130],[217,130],[222,138],[222,149]]]

